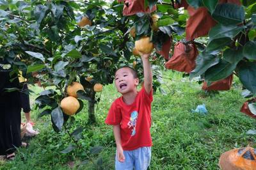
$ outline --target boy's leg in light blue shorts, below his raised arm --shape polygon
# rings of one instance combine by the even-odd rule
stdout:
[[[151,147],[134,150],[135,170],[147,170],[150,165]]]

